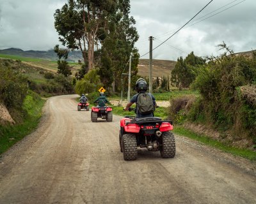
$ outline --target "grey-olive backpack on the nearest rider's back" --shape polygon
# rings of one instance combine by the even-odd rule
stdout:
[[[150,114],[155,111],[155,106],[152,97],[143,92],[136,97],[136,110],[140,114]]]

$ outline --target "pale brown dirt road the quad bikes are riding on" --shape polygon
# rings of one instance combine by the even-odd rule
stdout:
[[[124,161],[120,117],[92,123],[75,97],[48,99],[40,128],[1,157],[0,203],[256,203],[256,164],[182,136],[173,159]]]

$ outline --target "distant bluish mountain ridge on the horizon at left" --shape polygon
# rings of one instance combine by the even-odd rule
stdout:
[[[54,50],[48,51],[35,51],[35,50],[21,50],[19,48],[8,48],[4,50],[0,50],[0,54],[6,55],[17,55],[22,57],[31,57],[31,58],[39,58],[39,59],[48,59],[51,61],[57,61],[58,56],[54,52]],[[83,59],[82,53],[80,51],[72,51],[68,54],[68,61],[77,62],[78,60]]]

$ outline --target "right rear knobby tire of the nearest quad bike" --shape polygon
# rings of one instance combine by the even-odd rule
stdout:
[[[160,147],[161,157],[173,158],[175,156],[175,139],[171,132],[162,133],[162,147]]]

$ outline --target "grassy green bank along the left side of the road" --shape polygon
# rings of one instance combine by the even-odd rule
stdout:
[[[30,92],[24,99],[22,106],[28,112],[24,118],[24,122],[14,126],[0,126],[0,154],[36,129],[42,116],[44,103],[45,100],[41,99],[38,94]]]

